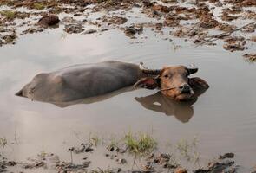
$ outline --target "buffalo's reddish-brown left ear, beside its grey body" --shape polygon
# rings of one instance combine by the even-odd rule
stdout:
[[[134,87],[135,88],[146,88],[146,89],[155,89],[159,86],[159,82],[157,78],[141,78],[138,80]]]

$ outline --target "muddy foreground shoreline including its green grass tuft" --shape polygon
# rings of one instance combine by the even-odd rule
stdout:
[[[200,156],[194,151],[196,141],[182,140],[176,144],[178,152],[161,152],[157,149],[157,142],[148,134],[132,134],[128,132],[123,138],[103,141],[98,137],[89,139],[89,143],[82,143],[72,146],[67,151],[70,153],[70,161],[63,161],[55,153],[42,151],[34,157],[29,157],[26,161],[12,161],[0,155],[0,172],[26,172],[32,170],[36,172],[53,171],[60,173],[68,172],[174,172],[174,173],[254,173],[255,168],[245,168],[235,163],[235,154],[227,152],[214,158],[206,165],[200,165]],[[4,147],[4,146],[3,146]],[[90,157],[95,151],[100,151],[103,159],[111,161],[113,164],[104,170],[100,167],[92,169]],[[194,167],[188,167],[179,161],[178,155],[182,159],[193,163]],[[81,160],[75,161],[75,157]],[[97,164],[97,163],[95,163]],[[114,166],[115,165],[115,166]],[[196,166],[195,166],[196,165]]]

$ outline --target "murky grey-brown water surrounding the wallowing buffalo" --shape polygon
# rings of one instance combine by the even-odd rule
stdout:
[[[147,31],[145,35],[152,33]],[[218,46],[194,47],[191,42],[164,38],[139,36],[131,40],[118,30],[102,35],[63,35],[62,29],[53,29],[23,36],[16,45],[1,48],[0,134],[9,141],[3,153],[24,160],[46,151],[69,160],[68,147],[81,144],[89,133],[106,137],[121,136],[126,131],[150,131],[161,145],[197,137],[204,160],[234,152],[238,163],[253,166],[255,65],[244,61],[241,52],[230,53]],[[154,68],[194,63],[200,68],[194,76],[207,80],[210,88],[188,106],[163,101],[157,91],[147,90],[66,107],[14,95],[37,73],[104,60],[143,61]],[[97,162],[99,167],[108,166],[104,161]]]

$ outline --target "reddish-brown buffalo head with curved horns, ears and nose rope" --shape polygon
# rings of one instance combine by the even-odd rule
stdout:
[[[155,89],[178,101],[194,99],[195,89],[207,89],[207,82],[200,78],[189,78],[190,74],[198,71],[197,67],[173,66],[151,70],[140,65],[141,72],[148,77],[141,78],[135,83],[135,87]]]

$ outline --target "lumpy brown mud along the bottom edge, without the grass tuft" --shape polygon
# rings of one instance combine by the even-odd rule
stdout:
[[[102,170],[101,168],[91,169],[91,161],[89,157],[94,154],[97,147],[93,144],[81,144],[80,147],[71,147],[69,152],[71,154],[70,162],[62,161],[59,156],[54,153],[41,152],[36,157],[30,157],[25,162],[10,161],[8,158],[0,155],[0,172],[13,172],[11,170],[19,170],[19,172],[26,172],[26,170],[42,171],[49,170],[52,172],[68,173],[68,172],[173,172],[173,173],[240,173],[251,172],[252,169],[245,169],[236,164],[233,159],[235,155],[233,153],[225,153],[220,155],[218,159],[214,159],[209,162],[207,166],[200,167],[194,170],[187,169],[186,165],[181,165],[175,161],[175,157],[172,153],[159,153],[153,151],[143,157],[134,157],[133,160],[127,159],[130,151],[127,147],[119,148],[117,146],[110,146],[105,148],[104,157],[106,160],[112,160],[117,163],[117,167]],[[89,154],[88,154],[89,153]],[[73,157],[75,155],[84,155],[81,163],[74,163]],[[86,157],[85,157],[86,156]],[[89,156],[89,157],[88,157]],[[133,165],[130,169],[125,167],[126,165]]]

